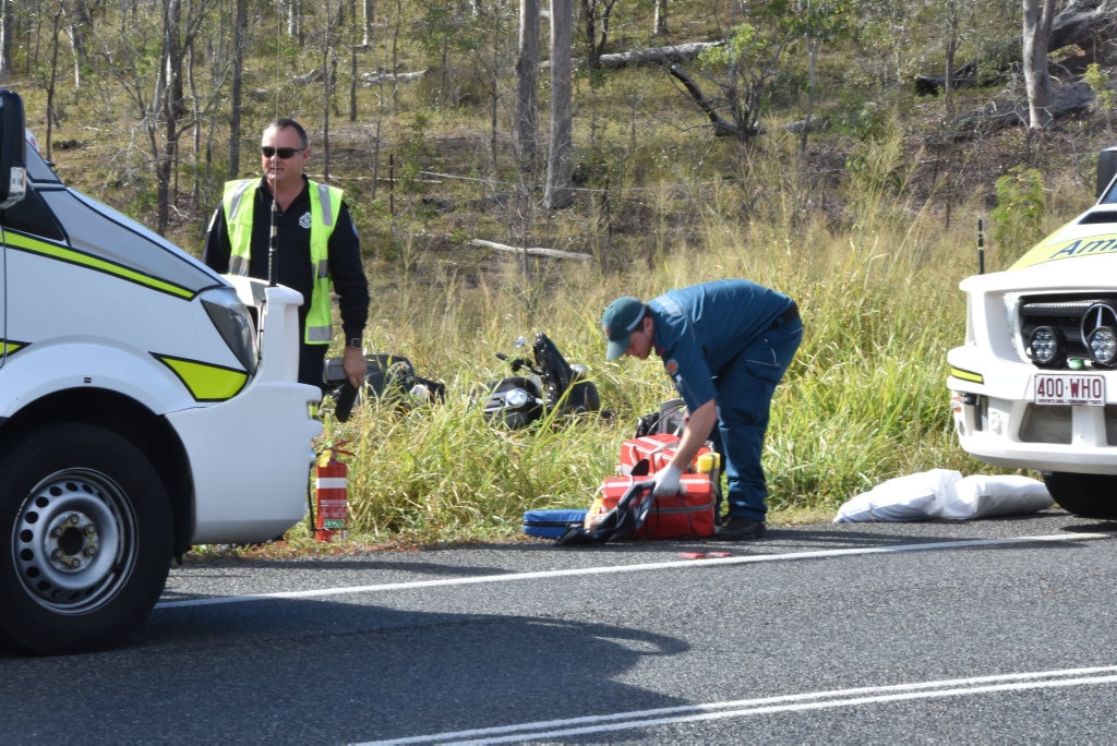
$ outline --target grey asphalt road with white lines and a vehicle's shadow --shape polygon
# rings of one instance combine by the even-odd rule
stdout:
[[[188,564],[121,650],[0,653],[0,739],[1110,742],[1114,536],[1050,510]]]

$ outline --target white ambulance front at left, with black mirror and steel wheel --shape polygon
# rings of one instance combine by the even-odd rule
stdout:
[[[0,640],[118,644],[192,545],[306,511],[302,296],[217,275],[67,188],[0,90]]]

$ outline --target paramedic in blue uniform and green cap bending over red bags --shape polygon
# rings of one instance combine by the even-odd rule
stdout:
[[[713,434],[728,482],[728,515],[714,538],[763,536],[767,486],[761,453],[772,394],[803,338],[795,303],[750,280],[715,280],[648,303],[618,298],[601,326],[605,360],[647,360],[655,350],[690,413],[675,457],[656,474],[655,494],[679,491],[682,471]],[[717,510],[720,516],[720,503]]]

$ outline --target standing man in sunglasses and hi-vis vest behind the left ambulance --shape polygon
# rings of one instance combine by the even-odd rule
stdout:
[[[364,382],[364,325],[369,280],[361,245],[342,190],[307,179],[311,159],[306,131],[294,119],[277,119],[260,138],[262,179],[225,185],[213,212],[202,261],[221,274],[268,279],[271,200],[278,207],[276,281],[303,294],[298,380],[323,388],[326,350],[333,338],[330,286],[338,296],[345,333],[343,369],[350,383]]]

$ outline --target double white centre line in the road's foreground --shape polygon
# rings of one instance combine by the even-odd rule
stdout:
[[[855,689],[814,691],[802,695],[765,697],[762,699],[739,699],[727,702],[665,707],[651,710],[613,712],[610,715],[563,720],[543,720],[495,728],[411,736],[392,740],[369,742],[365,746],[385,746],[388,744],[502,744],[522,740],[534,742],[615,730],[630,730],[632,728],[647,728],[657,725],[746,717],[751,715],[771,715],[775,712],[853,707],[857,705],[875,705],[890,701],[974,696],[999,691],[1052,689],[1095,683],[1117,683],[1117,666],[1006,673],[967,679],[945,679],[942,681],[860,687]]]

